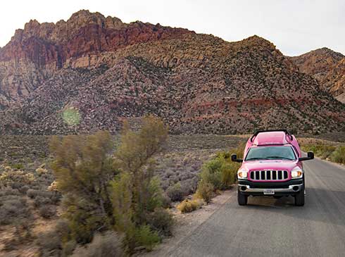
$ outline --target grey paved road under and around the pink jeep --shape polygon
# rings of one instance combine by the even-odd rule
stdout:
[[[168,256],[345,256],[345,168],[304,163],[306,204],[236,194]]]

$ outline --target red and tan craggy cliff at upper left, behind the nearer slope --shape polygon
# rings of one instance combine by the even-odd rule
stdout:
[[[61,68],[89,67],[103,52],[186,33],[193,32],[139,21],[126,24],[84,10],[56,24],[30,20],[0,49],[0,109],[25,99]]]

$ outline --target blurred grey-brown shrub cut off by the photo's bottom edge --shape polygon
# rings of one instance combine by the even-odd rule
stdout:
[[[73,257],[108,257],[125,256],[122,247],[122,237],[116,232],[96,234],[90,244],[78,247],[73,252]]]

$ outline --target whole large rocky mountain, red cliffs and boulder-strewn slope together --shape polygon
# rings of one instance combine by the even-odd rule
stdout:
[[[225,42],[88,11],[29,24],[0,50],[2,134],[115,132],[148,113],[172,133],[345,130],[345,105],[261,37]]]

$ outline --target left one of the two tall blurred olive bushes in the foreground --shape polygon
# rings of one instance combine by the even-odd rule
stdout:
[[[108,182],[118,174],[112,156],[114,146],[115,139],[109,132],[51,139],[50,149],[54,156],[51,168],[58,191],[68,195],[65,217],[76,230],[78,243],[90,242],[97,228],[113,222]]]

